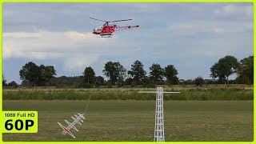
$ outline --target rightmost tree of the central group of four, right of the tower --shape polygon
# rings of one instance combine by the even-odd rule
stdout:
[[[175,85],[178,84],[178,71],[175,69],[173,65],[168,65],[165,67],[164,75],[166,76],[166,80],[169,84]]]

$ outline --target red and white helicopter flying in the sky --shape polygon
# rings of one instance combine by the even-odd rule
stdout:
[[[103,21],[101,19],[96,19],[96,18],[90,18],[90,19],[105,22],[102,26],[95,27],[93,31],[93,34],[98,34],[102,38],[110,38],[111,35],[114,34],[114,31],[117,31],[117,30],[130,30],[130,29],[139,27],[139,26],[118,26],[113,24],[113,22],[131,21],[132,19],[122,19],[122,20],[116,20],[116,21]]]

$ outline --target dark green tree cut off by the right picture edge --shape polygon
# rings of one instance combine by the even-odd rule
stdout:
[[[254,83],[254,56],[240,60],[238,67],[238,80],[242,83]]]

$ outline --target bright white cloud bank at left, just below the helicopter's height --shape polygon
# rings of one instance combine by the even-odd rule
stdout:
[[[66,68],[72,70],[95,62],[108,53],[108,47],[121,46],[122,42],[117,39],[97,38],[77,31],[3,33],[3,58],[63,58]]]

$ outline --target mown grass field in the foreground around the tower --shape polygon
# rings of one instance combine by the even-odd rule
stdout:
[[[3,141],[154,140],[155,101],[90,101],[86,121],[62,135],[57,122],[85,110],[87,101],[4,100],[3,110],[38,110],[37,134],[3,134]],[[166,101],[166,141],[253,141],[253,101]]]

